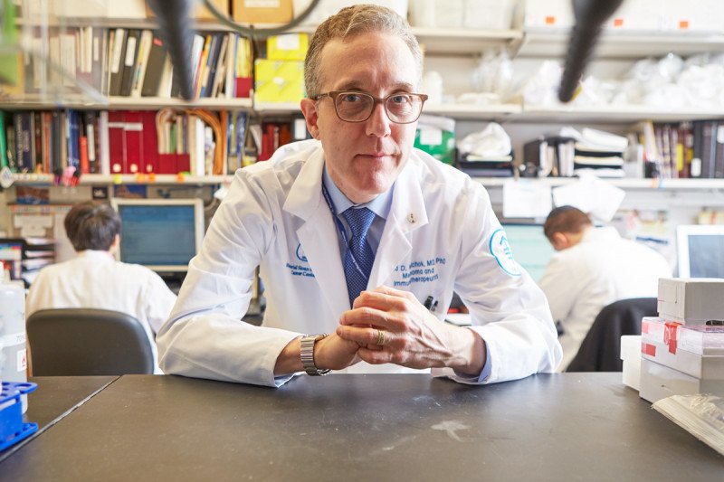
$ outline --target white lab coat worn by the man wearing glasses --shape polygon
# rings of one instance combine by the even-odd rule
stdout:
[[[236,172],[157,336],[166,373],[278,386],[291,378],[273,375],[284,346],[336,329],[349,301],[323,165],[321,145],[310,140]],[[488,345],[488,382],[551,372],[560,358],[546,298],[509,259],[498,230],[481,184],[415,149],[395,182],[367,285],[433,296],[441,319],[457,291]],[[267,299],[262,327],[240,321],[257,265]],[[361,363],[346,372],[380,371],[405,369]]]

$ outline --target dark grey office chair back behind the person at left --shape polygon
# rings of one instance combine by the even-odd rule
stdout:
[[[118,311],[43,309],[27,319],[34,376],[153,373],[143,326]]]

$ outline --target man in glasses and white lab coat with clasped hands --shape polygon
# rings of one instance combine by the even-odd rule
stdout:
[[[553,372],[548,303],[485,189],[413,148],[426,96],[405,20],[341,10],[304,71],[314,139],[236,172],[158,334],[164,371],[269,386],[329,370],[433,368],[462,383]],[[251,326],[257,266],[267,307]],[[443,322],[453,291],[470,328]]]

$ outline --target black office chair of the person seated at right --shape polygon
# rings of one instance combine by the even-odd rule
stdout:
[[[621,372],[621,336],[641,335],[641,318],[658,317],[656,298],[615,301],[595,317],[567,372]]]

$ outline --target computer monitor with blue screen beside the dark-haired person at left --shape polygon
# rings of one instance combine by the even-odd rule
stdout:
[[[159,272],[188,269],[204,238],[201,199],[113,199],[121,221],[119,260]]]

